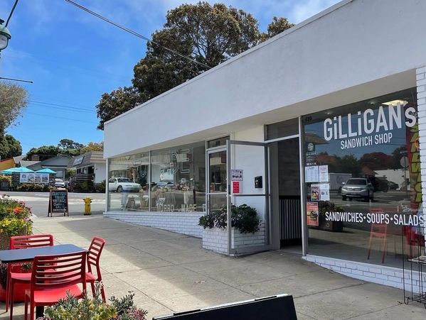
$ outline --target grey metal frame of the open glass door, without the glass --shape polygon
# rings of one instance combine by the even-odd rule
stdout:
[[[231,172],[231,164],[233,160],[232,145],[252,145],[252,146],[259,146],[263,147],[264,149],[264,157],[265,157],[265,193],[263,194],[232,194],[231,186],[230,186],[230,172]],[[268,143],[260,143],[260,142],[251,142],[251,141],[241,141],[241,140],[227,140],[226,141],[226,157],[227,157],[227,175],[228,175],[228,204],[227,204],[227,218],[228,218],[228,226],[231,225],[231,200],[233,197],[265,197],[265,244],[264,245],[253,245],[250,247],[245,248],[232,248],[232,231],[231,228],[228,228],[228,254],[230,255],[231,252],[234,250],[235,253],[255,253],[255,252],[261,252],[261,251],[267,251],[272,250],[272,225],[271,225],[271,197],[270,197],[270,179],[269,179],[269,172],[270,172],[270,147]],[[236,158],[236,155],[235,155]]]

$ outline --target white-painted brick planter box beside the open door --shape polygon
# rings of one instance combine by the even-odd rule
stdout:
[[[260,230],[256,233],[240,233],[232,228],[233,248],[238,250],[239,248],[265,244],[265,225],[261,222],[259,228]],[[203,229],[203,248],[228,254],[228,229]]]

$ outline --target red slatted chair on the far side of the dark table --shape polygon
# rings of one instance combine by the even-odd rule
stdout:
[[[53,245],[53,235],[51,234],[31,234],[28,236],[11,237],[9,249],[25,249]],[[29,262],[29,261],[28,261]],[[31,272],[14,272],[16,267],[21,268],[21,264],[9,263],[7,266],[7,287],[6,287],[6,312],[11,306],[10,319],[14,314],[14,289],[17,283],[30,283]]]

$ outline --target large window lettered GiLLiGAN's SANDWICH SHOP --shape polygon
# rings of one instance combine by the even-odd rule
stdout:
[[[309,114],[304,142],[309,253],[400,267],[422,224],[415,89]]]

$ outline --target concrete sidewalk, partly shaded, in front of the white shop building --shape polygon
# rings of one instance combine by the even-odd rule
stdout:
[[[299,319],[426,319],[423,304],[403,303],[403,292],[344,277],[299,255],[266,252],[229,258],[201,248],[201,239],[134,226],[102,216],[38,218],[34,233],[87,248],[107,240],[101,266],[107,296],[135,292],[148,319],[174,311],[271,294],[294,297]],[[9,319],[1,304],[0,319]],[[17,304],[14,319],[23,319]]]

